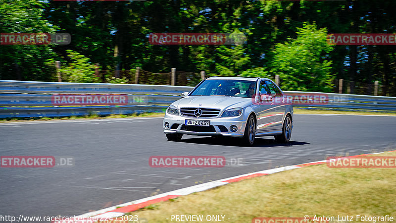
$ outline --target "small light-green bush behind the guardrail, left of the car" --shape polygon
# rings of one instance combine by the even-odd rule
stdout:
[[[67,56],[71,63],[60,67],[62,79],[67,82],[98,83],[99,77],[95,76],[95,65],[89,62],[89,58],[72,50],[67,50]]]

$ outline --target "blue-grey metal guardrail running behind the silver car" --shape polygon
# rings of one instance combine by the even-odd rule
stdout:
[[[162,112],[193,87],[137,84],[59,83],[0,80],[0,118],[57,117],[89,114]],[[294,106],[308,108],[396,111],[396,97],[285,91]],[[62,94],[123,94],[124,105],[54,106]],[[316,101],[318,103],[315,103]],[[312,103],[313,102],[313,103]]]

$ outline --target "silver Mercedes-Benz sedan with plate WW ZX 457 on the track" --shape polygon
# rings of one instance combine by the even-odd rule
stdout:
[[[293,105],[268,78],[209,77],[166,110],[163,129],[169,140],[183,134],[240,137],[248,146],[255,137],[289,142]]]

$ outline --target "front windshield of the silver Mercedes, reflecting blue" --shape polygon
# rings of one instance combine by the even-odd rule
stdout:
[[[245,80],[205,80],[190,96],[231,96],[252,98],[255,92],[255,81]]]

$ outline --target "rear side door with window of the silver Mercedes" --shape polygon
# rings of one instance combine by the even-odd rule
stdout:
[[[271,91],[273,104],[275,107],[273,127],[275,130],[281,130],[283,125],[282,123],[283,116],[286,112],[285,98],[281,90],[277,87],[277,85],[274,82],[266,80],[265,83],[267,84],[269,90]]]

